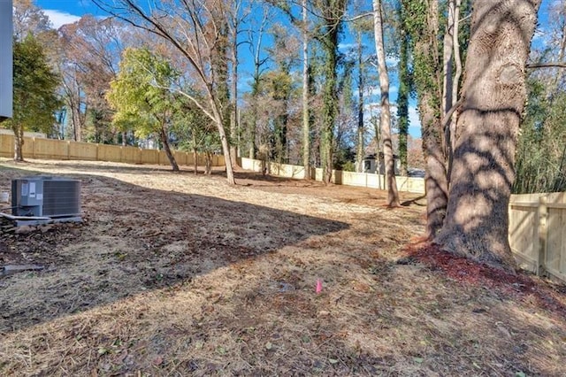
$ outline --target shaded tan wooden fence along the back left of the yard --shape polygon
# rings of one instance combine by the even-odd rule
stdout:
[[[96,144],[92,142],[71,142],[68,140],[24,137],[22,148],[24,158],[79,159],[90,161],[124,162],[129,164],[169,165],[169,159],[163,150],[142,150],[137,147]],[[177,164],[194,165],[193,153],[173,151]],[[0,156],[13,157],[14,136],[0,135]],[[203,165],[204,155],[198,156]],[[213,166],[224,166],[224,156],[212,157]]]

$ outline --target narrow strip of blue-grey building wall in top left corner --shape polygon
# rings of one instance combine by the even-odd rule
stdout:
[[[11,118],[12,111],[11,22],[11,0],[0,0],[0,121]]]

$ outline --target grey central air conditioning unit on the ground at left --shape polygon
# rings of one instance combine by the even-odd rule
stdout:
[[[38,175],[11,181],[13,216],[80,217],[80,181]]]

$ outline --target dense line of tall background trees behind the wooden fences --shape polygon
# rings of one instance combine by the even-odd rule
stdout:
[[[155,12],[165,9],[164,4],[167,2],[153,9]],[[348,10],[369,9],[347,2],[308,2],[303,20],[301,6],[291,2],[203,4],[207,4],[210,14],[201,19],[201,29],[193,32],[195,37],[202,35],[202,40],[208,42],[191,51],[195,57],[207,58],[199,73],[191,69],[188,51],[179,50],[166,39],[152,37],[147,25],[132,27],[119,18],[96,19],[86,15],[53,30],[42,9],[32,1],[14,0],[14,39],[25,42],[29,36],[38,42],[42,49],[42,57],[38,58],[53,73],[54,85],[48,91],[57,97],[57,103],[44,109],[47,119],[35,116],[29,124],[15,123],[21,124],[20,130],[42,131],[50,137],[81,142],[138,145],[154,135],[157,144],[165,148],[159,132],[149,129],[143,119],[129,119],[129,122],[120,119],[123,112],[109,96],[111,82],[119,80],[125,51],[144,49],[172,65],[177,77],[164,89],[174,94],[175,105],[185,110],[194,107],[190,110],[192,115],[180,116],[174,122],[168,118],[165,122],[164,131],[172,148],[194,150],[195,146],[199,151],[221,151],[221,142],[217,140],[214,145],[214,134],[218,131],[210,127],[210,123],[218,120],[214,117],[219,116],[227,129],[226,139],[244,157],[302,164],[304,155],[308,154],[310,165],[320,166],[327,154],[327,171],[355,170],[356,165],[361,170],[361,159],[379,152],[382,142],[380,111],[376,105],[377,70],[372,65],[375,55],[371,45],[372,23],[371,19],[347,19]],[[184,22],[190,11],[177,12],[175,22]],[[134,13],[123,16],[134,18]],[[279,21],[272,22],[273,19]],[[349,35],[356,38],[349,41]],[[189,44],[188,40],[183,42]],[[301,54],[303,45],[307,60]],[[393,59],[395,54],[396,50],[387,52]],[[245,59],[246,64],[238,59]],[[307,72],[306,84],[299,74],[303,69]],[[205,82],[203,73],[208,75]],[[240,88],[234,90],[233,83],[239,83]],[[148,84],[154,83],[148,81]],[[213,101],[207,97],[207,86],[214,94]],[[308,93],[307,106],[302,106],[304,88]],[[192,104],[188,108],[187,101]],[[217,115],[210,110],[210,103],[216,104]],[[31,110],[29,105],[26,108]],[[309,109],[325,111],[308,112],[305,123],[302,112]],[[201,113],[195,114],[198,111]],[[212,117],[203,122],[207,114]],[[196,127],[195,135],[190,127],[195,121],[183,127],[175,126],[180,119],[191,117],[204,123]],[[308,153],[303,148],[305,124],[309,127]],[[203,130],[209,130],[211,137],[198,137]],[[394,139],[396,146],[396,135]],[[415,155],[412,167],[424,167],[419,165],[419,142],[412,140]]]

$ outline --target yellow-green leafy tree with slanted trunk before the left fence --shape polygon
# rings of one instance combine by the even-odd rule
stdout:
[[[148,49],[126,49],[116,80],[111,82],[107,99],[116,110],[112,122],[125,130],[133,127],[136,135],[156,134],[173,171],[179,171],[169,144],[168,128],[180,102],[172,85],[180,74],[169,62]]]

